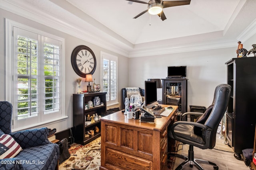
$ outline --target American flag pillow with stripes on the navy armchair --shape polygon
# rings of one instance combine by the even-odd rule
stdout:
[[[22,148],[10,135],[0,136],[0,159],[13,158]]]

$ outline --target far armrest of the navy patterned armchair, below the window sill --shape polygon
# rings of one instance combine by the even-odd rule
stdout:
[[[14,140],[20,144],[22,149],[37,147],[51,143],[48,140],[49,129],[46,127],[38,129],[28,129],[10,133]]]

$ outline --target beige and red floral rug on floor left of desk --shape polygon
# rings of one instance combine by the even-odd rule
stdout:
[[[98,137],[87,145],[72,144],[71,156],[59,165],[59,170],[99,170],[100,142]]]

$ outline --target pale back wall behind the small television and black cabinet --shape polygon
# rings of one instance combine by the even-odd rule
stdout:
[[[236,48],[175,53],[129,60],[130,86],[144,87],[147,78],[166,78],[168,66],[187,66],[189,105],[210,106],[215,87],[226,83],[226,62],[236,58]],[[161,89],[157,91],[162,100]]]

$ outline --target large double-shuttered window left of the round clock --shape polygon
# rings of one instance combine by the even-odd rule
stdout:
[[[13,31],[12,38],[6,38],[13,42],[9,49],[13,55],[6,57],[6,65],[10,66],[6,67],[6,72],[13,77],[6,75],[6,84],[12,89],[11,94],[6,93],[13,105],[12,128],[22,129],[63,116],[64,39],[14,21],[7,23]]]

